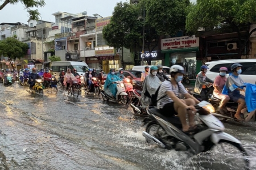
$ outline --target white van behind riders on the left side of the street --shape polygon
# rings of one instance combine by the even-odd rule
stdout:
[[[78,61],[53,61],[51,65],[51,69],[53,74],[56,73],[56,78],[59,78],[60,69],[64,69],[67,72],[67,69],[71,69],[73,73],[73,69],[77,70],[77,73],[84,74],[85,70],[89,70],[88,65],[85,62]]]

